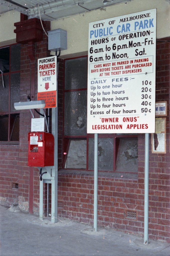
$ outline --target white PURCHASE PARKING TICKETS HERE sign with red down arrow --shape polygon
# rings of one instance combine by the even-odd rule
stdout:
[[[57,56],[38,59],[38,92],[57,90]]]

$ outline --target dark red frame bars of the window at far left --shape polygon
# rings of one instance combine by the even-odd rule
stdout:
[[[11,111],[11,74],[16,74],[16,73],[20,73],[20,68],[19,70],[16,71],[11,71],[11,47],[14,45],[19,45],[18,43],[15,44],[11,44],[11,45],[5,45],[0,47],[0,49],[3,48],[8,48],[9,47],[9,72],[5,72],[3,73],[3,79],[5,76],[8,76],[8,111],[0,111],[0,116],[5,116],[8,115],[8,140],[1,140],[0,144],[5,144],[5,143],[10,143],[10,144],[16,144],[19,143],[19,139],[18,140],[11,140],[12,137],[12,133],[14,130],[14,125],[16,122],[17,117],[19,117],[19,111]],[[2,78],[2,73],[0,72],[0,77]],[[11,124],[11,120],[12,120],[12,115],[16,115],[14,124]],[[18,137],[19,137],[19,131],[18,131]]]

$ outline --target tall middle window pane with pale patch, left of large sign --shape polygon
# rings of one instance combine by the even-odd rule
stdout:
[[[86,135],[87,91],[65,92],[64,135]]]

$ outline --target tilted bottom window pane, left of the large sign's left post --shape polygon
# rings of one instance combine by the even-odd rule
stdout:
[[[86,140],[70,140],[65,168],[86,169]]]

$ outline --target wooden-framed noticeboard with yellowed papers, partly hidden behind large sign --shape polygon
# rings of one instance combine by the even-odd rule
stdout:
[[[151,134],[152,153],[166,154],[166,118],[155,118],[155,133]]]

